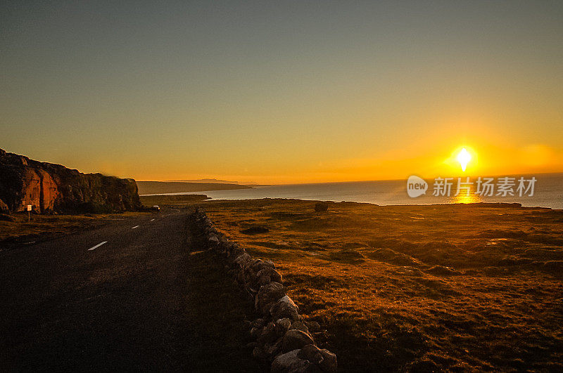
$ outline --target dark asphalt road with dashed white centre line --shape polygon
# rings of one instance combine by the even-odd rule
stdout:
[[[1,253],[0,369],[190,370],[185,223],[163,211]]]

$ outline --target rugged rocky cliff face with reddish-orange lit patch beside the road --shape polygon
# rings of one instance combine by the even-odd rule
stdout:
[[[68,214],[141,207],[133,179],[82,174],[0,149],[0,210],[24,211],[28,204],[41,213]]]

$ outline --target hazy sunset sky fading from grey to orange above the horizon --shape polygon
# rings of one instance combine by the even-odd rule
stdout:
[[[136,180],[563,171],[562,1],[2,1],[0,148]]]

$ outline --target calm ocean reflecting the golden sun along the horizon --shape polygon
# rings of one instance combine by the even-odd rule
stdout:
[[[472,203],[472,202],[517,202],[525,207],[550,207],[552,209],[563,209],[563,173],[560,174],[536,174],[536,175],[512,175],[509,177],[505,192],[498,195],[500,177],[495,176],[491,182],[495,184],[493,195],[478,195],[476,181],[477,178],[469,178],[473,184],[462,184],[467,188],[461,188],[460,193],[455,195],[457,190],[457,177],[451,181],[451,192],[448,196],[434,195],[436,181],[426,179],[428,190],[426,194],[419,197],[409,197],[407,194],[406,180],[391,181],[355,181],[341,183],[310,183],[310,184],[291,184],[291,185],[268,185],[258,186],[252,189],[239,190],[209,190],[202,192],[186,193],[167,193],[168,195],[182,194],[205,194],[211,199],[258,199],[258,198],[295,198],[311,199],[322,201],[348,201],[348,202],[367,202],[379,205],[389,204],[450,204],[450,203]],[[533,195],[531,190],[522,190],[519,195],[519,178],[524,177],[525,181],[532,177],[536,178],[533,185]],[[511,186],[514,178],[514,185]],[[461,182],[467,181],[465,177]],[[505,183],[506,184],[506,183]],[[529,182],[524,183],[528,187]],[[514,195],[510,195],[510,190]],[[469,190],[469,192],[467,192]]]

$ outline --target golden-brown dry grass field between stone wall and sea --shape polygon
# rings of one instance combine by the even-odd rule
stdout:
[[[276,261],[343,370],[563,369],[562,211],[314,204],[201,205]]]

